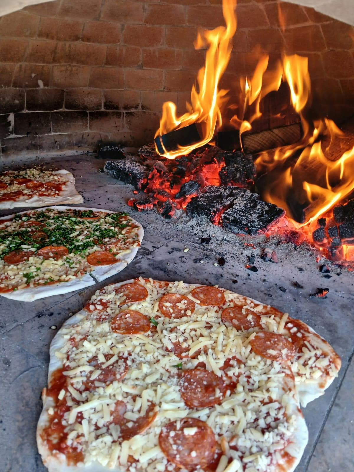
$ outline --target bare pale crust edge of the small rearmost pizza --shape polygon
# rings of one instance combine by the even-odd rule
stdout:
[[[67,170],[55,170],[52,174],[59,174],[67,177],[67,182],[64,185],[60,195],[55,197],[34,195],[27,200],[8,200],[0,202],[0,210],[12,210],[13,208],[35,208],[52,204],[76,204],[84,201],[83,197],[77,193],[75,188],[75,177]]]

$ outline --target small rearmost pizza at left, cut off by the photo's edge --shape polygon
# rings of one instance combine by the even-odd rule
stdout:
[[[82,203],[75,178],[67,170],[7,170],[0,174],[0,210]]]

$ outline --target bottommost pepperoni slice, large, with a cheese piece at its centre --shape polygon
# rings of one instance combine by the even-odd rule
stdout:
[[[188,434],[189,428],[197,430]],[[214,459],[216,444],[210,426],[196,418],[171,421],[159,435],[160,448],[168,460],[188,471],[194,471],[198,466],[205,469]]]

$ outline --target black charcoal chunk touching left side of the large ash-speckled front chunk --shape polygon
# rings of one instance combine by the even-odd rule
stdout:
[[[236,187],[209,185],[202,194],[192,198],[186,206],[188,216],[193,218],[203,217],[212,222],[217,222],[220,212],[231,204],[233,189]],[[243,190],[243,189],[239,189]]]

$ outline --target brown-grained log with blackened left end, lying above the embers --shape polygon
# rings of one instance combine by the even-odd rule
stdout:
[[[302,137],[300,123],[288,126],[280,126],[257,133],[244,133],[241,135],[242,149],[244,152],[254,154],[261,151],[269,151],[281,146],[295,144]],[[218,146],[227,150],[240,150],[240,134],[238,130],[219,131],[217,137]]]

